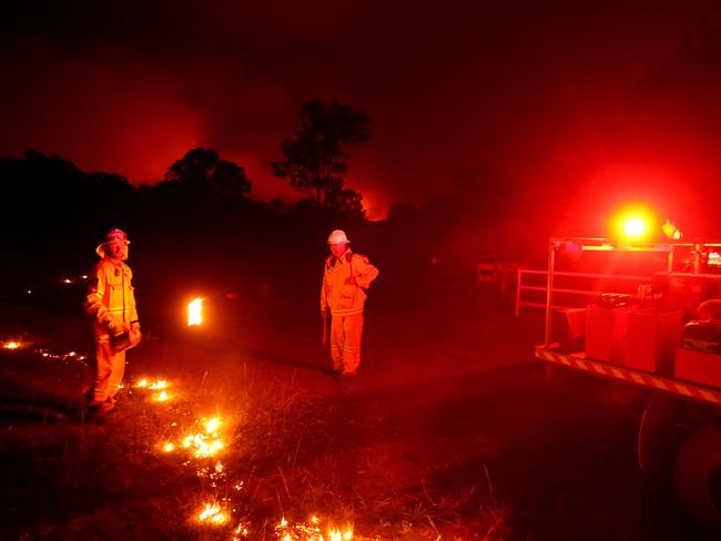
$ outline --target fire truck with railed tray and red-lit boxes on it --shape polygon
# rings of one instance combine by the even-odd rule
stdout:
[[[646,389],[641,469],[721,532],[721,243],[554,237],[538,273],[535,358]]]

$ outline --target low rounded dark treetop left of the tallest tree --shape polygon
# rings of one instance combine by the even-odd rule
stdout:
[[[191,197],[217,202],[238,198],[251,191],[245,170],[235,162],[221,160],[212,149],[193,149],[173,163],[164,184],[184,188]]]

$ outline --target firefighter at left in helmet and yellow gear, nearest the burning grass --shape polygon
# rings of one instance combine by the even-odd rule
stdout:
[[[88,401],[91,414],[104,415],[114,409],[125,371],[125,349],[142,338],[133,273],[124,263],[129,244],[123,231],[108,232],[104,242],[95,248],[102,259],[88,277],[85,312],[92,319],[95,338],[94,379]]]

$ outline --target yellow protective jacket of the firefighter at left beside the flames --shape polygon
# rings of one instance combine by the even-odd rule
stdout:
[[[138,321],[133,273],[123,262],[109,257],[98,262],[88,276],[85,313],[92,318],[95,338],[108,338],[130,329]]]

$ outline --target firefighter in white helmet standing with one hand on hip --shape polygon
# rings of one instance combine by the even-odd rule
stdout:
[[[331,312],[331,358],[333,369],[343,376],[355,376],[360,364],[363,305],[365,290],[378,276],[367,257],[354,254],[345,233],[336,229],[328,237],[331,256],[325,262],[321,287],[323,321]]]

